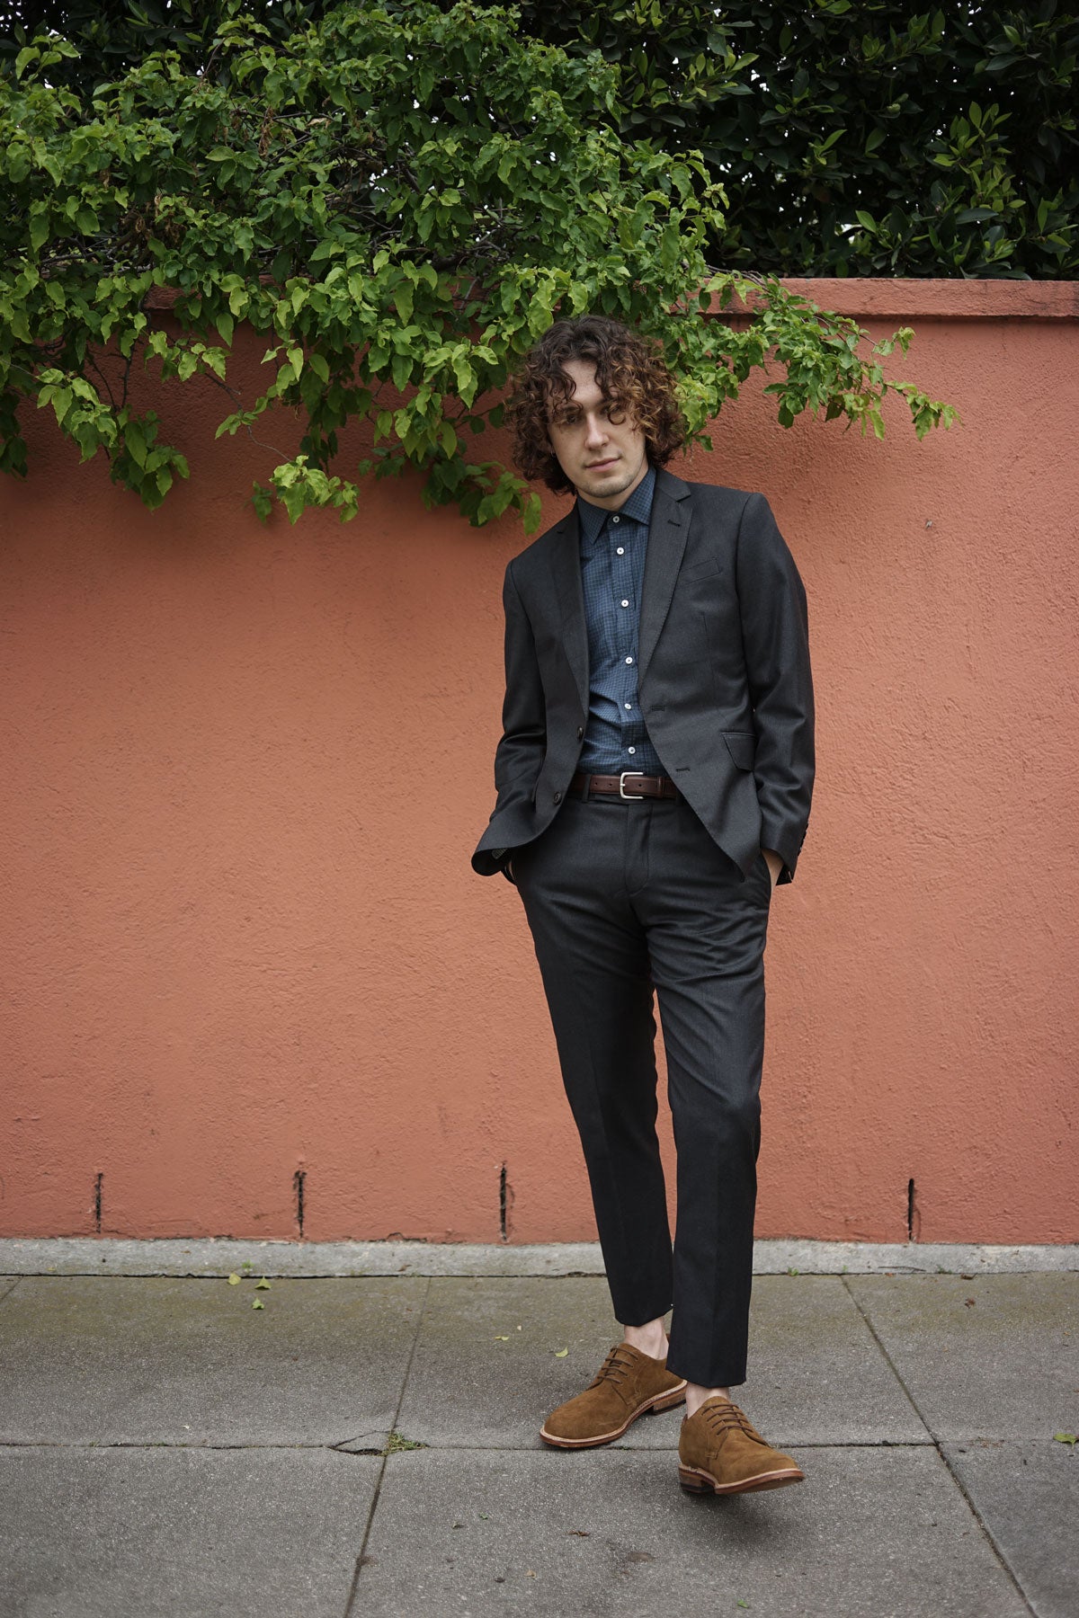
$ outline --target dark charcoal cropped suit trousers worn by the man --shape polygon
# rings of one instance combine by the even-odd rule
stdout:
[[[633,783],[629,783],[629,788]],[[673,1306],[668,1367],[746,1380],[772,877],[683,801],[569,796],[513,854],[592,1188],[615,1315]],[[678,1157],[671,1252],[654,990]]]

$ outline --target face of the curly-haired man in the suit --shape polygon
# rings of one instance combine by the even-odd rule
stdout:
[[[633,416],[605,396],[589,359],[566,361],[563,374],[573,393],[548,408],[547,438],[573,487],[615,511],[649,469],[647,440]]]

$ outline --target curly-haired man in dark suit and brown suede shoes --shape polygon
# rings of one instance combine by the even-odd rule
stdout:
[[[684,1400],[683,1487],[778,1489],[804,1474],[730,1390],[746,1380],[765,930],[814,778],[806,592],[762,495],[663,471],[684,424],[637,333],[556,322],[510,416],[524,476],[578,498],[506,570],[498,799],[472,866],[524,901],[624,1330],[540,1435],[610,1443]]]

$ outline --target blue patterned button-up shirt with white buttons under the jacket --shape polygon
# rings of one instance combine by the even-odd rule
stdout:
[[[589,631],[589,722],[579,770],[666,775],[637,702],[637,628],[655,469],[650,466],[618,511],[578,497],[581,582]],[[633,791],[633,783],[626,783]]]

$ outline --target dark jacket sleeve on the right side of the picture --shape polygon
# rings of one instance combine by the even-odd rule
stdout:
[[[814,686],[806,589],[764,495],[751,495],[738,529],[738,602],[757,752],[760,846],[791,882],[814,790]]]

